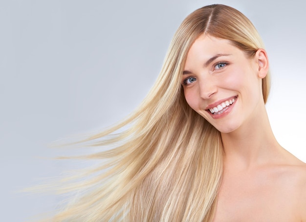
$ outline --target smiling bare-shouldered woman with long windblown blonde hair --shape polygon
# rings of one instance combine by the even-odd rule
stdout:
[[[82,195],[54,220],[306,221],[306,165],[272,133],[268,69],[239,11],[216,4],[191,13],[141,106],[88,138],[108,146],[87,156],[104,165],[71,188]]]

